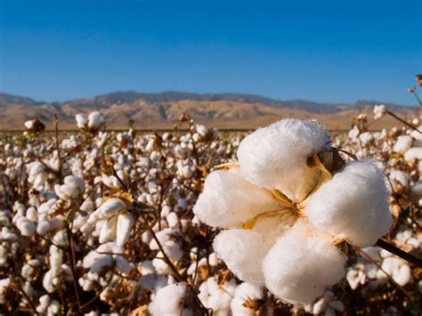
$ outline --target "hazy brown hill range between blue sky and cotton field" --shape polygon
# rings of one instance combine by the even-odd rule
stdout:
[[[63,128],[76,128],[75,115],[100,111],[110,128],[126,128],[134,119],[136,128],[171,128],[180,113],[187,112],[198,122],[220,128],[256,128],[282,117],[317,118],[331,129],[350,127],[353,115],[360,112],[372,117],[372,108],[379,101],[357,101],[353,104],[321,103],[303,100],[280,101],[242,93],[136,93],[115,92],[92,98],[47,103],[7,93],[0,93],[0,129],[18,130],[23,123],[38,117],[51,127],[53,114],[58,113]],[[402,117],[410,117],[416,109],[384,103]],[[390,118],[371,127],[397,125]]]

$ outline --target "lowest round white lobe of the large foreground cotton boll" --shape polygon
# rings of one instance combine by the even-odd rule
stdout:
[[[346,256],[309,223],[296,223],[264,258],[266,287],[290,304],[310,304],[345,276]]]

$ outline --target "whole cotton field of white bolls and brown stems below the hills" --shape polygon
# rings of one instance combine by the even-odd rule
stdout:
[[[389,113],[340,134],[26,122],[0,141],[0,312],[420,314],[422,126],[369,131]]]

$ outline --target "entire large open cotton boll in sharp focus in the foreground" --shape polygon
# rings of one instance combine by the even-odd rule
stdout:
[[[194,212],[225,229],[215,252],[240,280],[312,303],[345,276],[337,245],[368,247],[389,230],[383,174],[336,153],[318,122],[284,119],[246,137],[231,169],[208,175]]]

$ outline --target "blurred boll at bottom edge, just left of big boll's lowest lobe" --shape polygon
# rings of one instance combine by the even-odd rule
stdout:
[[[234,297],[230,304],[231,313],[233,316],[255,316],[256,310],[248,307],[248,303],[261,300],[264,300],[263,289],[254,284],[243,282],[234,291]]]

